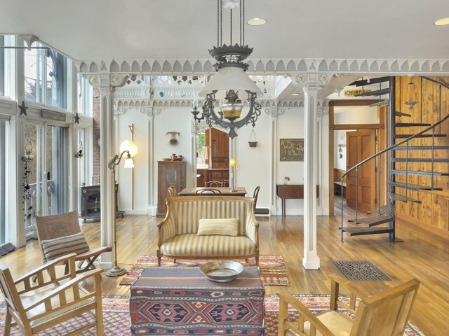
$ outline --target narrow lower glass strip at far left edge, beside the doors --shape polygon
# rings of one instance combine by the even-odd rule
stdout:
[[[6,190],[6,158],[8,157],[8,144],[7,132],[9,130],[9,121],[0,119],[0,244],[4,244],[7,241],[7,228],[6,228],[6,212],[8,211],[8,195]]]

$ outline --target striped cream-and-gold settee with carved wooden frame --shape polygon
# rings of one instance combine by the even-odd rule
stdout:
[[[237,236],[196,235],[201,218],[237,218]],[[157,258],[246,259],[259,265],[259,223],[253,199],[226,196],[167,198],[167,215],[158,224]]]

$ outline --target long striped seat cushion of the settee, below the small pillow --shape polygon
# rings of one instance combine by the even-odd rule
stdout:
[[[255,244],[246,236],[238,235],[199,236],[196,233],[176,235],[163,242],[161,246],[163,255],[208,256],[220,257],[229,255],[254,255]]]

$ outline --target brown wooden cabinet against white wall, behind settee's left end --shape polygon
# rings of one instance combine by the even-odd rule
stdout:
[[[185,161],[158,161],[157,182],[157,214],[165,215],[167,212],[166,198],[170,197],[168,188],[174,186],[179,193],[186,186]]]

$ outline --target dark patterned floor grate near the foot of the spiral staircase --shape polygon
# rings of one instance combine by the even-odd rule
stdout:
[[[333,265],[337,267],[342,276],[351,281],[391,281],[370,261],[333,261]]]

